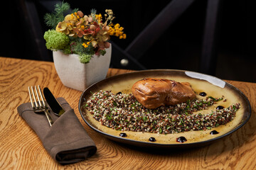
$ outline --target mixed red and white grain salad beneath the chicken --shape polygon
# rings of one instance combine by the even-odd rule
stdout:
[[[207,96],[174,106],[149,109],[142,106],[132,94],[99,91],[92,93],[83,107],[101,125],[114,130],[173,134],[190,130],[210,130],[233,120],[240,103],[227,108],[216,108],[206,114],[198,113],[218,101],[225,99]]]

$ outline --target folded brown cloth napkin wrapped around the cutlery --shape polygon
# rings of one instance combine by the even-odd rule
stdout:
[[[57,98],[65,109],[58,117],[50,111],[53,125],[50,127],[46,115],[32,111],[31,103],[18,106],[18,114],[36,132],[43,147],[60,164],[72,164],[85,160],[97,151],[95,142],[87,135],[74,110],[64,98]]]

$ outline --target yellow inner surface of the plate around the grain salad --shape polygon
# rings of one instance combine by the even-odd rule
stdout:
[[[242,98],[238,96],[234,91],[228,89],[228,88],[221,88],[219,86],[215,86],[213,84],[210,84],[208,81],[200,80],[200,79],[187,79],[183,77],[170,77],[170,76],[162,76],[162,77],[154,77],[154,78],[163,78],[163,79],[171,79],[174,81],[179,82],[189,82],[193,88],[194,91],[196,91],[197,98],[206,98],[199,96],[198,94],[201,92],[206,92],[207,96],[213,96],[216,98],[223,97],[226,99],[226,101],[218,101],[217,104],[214,104],[213,106],[208,107],[205,111],[198,111],[198,113],[206,114],[211,113],[211,111],[215,110],[217,106],[223,106],[224,108],[228,108],[228,106],[231,106],[234,103],[240,103],[240,109],[236,113],[236,116],[234,120],[232,120],[230,123],[227,123],[226,125],[219,125],[217,128],[212,128],[211,130],[198,130],[198,131],[188,131],[188,132],[180,132],[176,134],[157,134],[157,133],[150,133],[150,132],[132,132],[132,131],[120,131],[120,130],[113,130],[112,128],[107,128],[104,125],[101,125],[97,120],[92,118],[92,115],[90,113],[86,113],[87,119],[97,127],[97,129],[101,130],[102,132],[106,132],[107,134],[114,135],[119,137],[119,134],[121,132],[125,132],[127,134],[126,139],[130,140],[137,140],[142,142],[149,142],[149,137],[154,137],[156,139],[156,142],[154,143],[160,143],[160,144],[178,144],[176,142],[176,138],[183,136],[186,137],[187,141],[185,143],[193,143],[193,142],[202,142],[206,140],[213,139],[215,137],[224,135],[227,132],[230,132],[230,130],[235,129],[243,119],[243,113],[245,111],[245,103],[243,103]],[[122,93],[131,93],[132,85],[138,81],[139,79],[128,79],[127,81],[114,81],[110,82],[109,84],[106,84],[102,89],[103,91],[112,91],[114,94],[122,91]],[[197,113],[195,113],[197,114]],[[210,135],[210,132],[212,130],[216,130],[219,133],[217,135]]]

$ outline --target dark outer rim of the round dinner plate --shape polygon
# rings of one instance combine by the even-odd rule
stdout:
[[[87,89],[90,89],[92,86],[95,86],[96,84],[98,84],[102,81],[107,81],[107,80],[110,80],[110,79],[117,79],[118,77],[123,77],[124,75],[138,74],[138,73],[143,73],[143,72],[174,72],[174,71],[175,72],[191,72],[191,71],[186,71],[186,70],[181,70],[181,69],[146,69],[146,70],[128,72],[128,73],[124,73],[124,74],[117,74],[117,75],[114,75],[112,77],[107,77],[106,79],[102,79],[101,81],[97,81],[95,84],[92,84],[91,86],[88,86]],[[203,74],[203,73],[199,73],[199,72],[193,72],[193,73],[202,74],[202,75],[205,75],[205,76],[208,76],[208,77],[213,77],[211,75]],[[218,77],[213,77],[213,78],[219,79]],[[193,79],[195,79],[195,78],[193,78]],[[219,79],[219,80],[224,81],[223,79]],[[80,100],[79,100],[79,103],[78,103],[78,110],[80,112],[80,115],[81,115],[82,119],[85,121],[85,123],[90,128],[92,128],[92,130],[95,130],[96,132],[99,132],[101,135],[105,135],[107,138],[109,138],[111,140],[115,140],[117,142],[127,143],[127,144],[130,144],[130,145],[134,145],[136,143],[137,144],[136,146],[138,146],[138,144],[139,144],[139,146],[141,146],[141,147],[192,147],[192,146],[195,146],[195,145],[207,145],[207,144],[210,144],[211,142],[215,142],[215,140],[219,140],[220,138],[226,137],[226,136],[232,134],[233,132],[239,130],[240,128],[242,128],[242,126],[245,125],[245,123],[247,123],[250,120],[250,117],[251,117],[251,114],[252,114],[250,101],[248,100],[247,96],[245,96],[245,94],[243,94],[242,91],[240,91],[240,89],[238,89],[237,87],[233,86],[232,84],[228,83],[227,81],[224,81],[224,82],[225,82],[225,84],[228,84],[228,86],[230,86],[231,88],[235,89],[235,91],[238,91],[242,95],[242,98],[245,99],[245,102],[247,103],[247,106],[248,106],[248,116],[245,120],[242,121],[242,123],[240,123],[240,125],[238,125],[233,130],[230,130],[230,131],[226,132],[225,134],[220,135],[220,136],[215,137],[215,138],[212,138],[210,140],[204,140],[204,141],[200,141],[200,142],[177,143],[177,144],[161,144],[161,143],[154,143],[154,142],[144,142],[144,141],[139,141],[139,140],[131,140],[129,138],[118,137],[118,136],[110,135],[107,132],[103,132],[103,131],[93,127],[92,125],[90,125],[90,123],[87,122],[84,115],[82,114],[81,103],[82,103],[83,95],[85,94],[87,89],[85,89],[85,91],[83,91],[81,96],[80,96]],[[123,142],[123,141],[125,141],[125,142]]]

